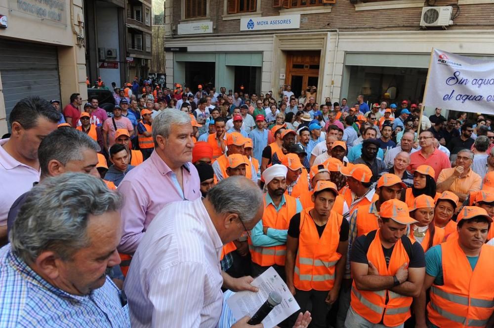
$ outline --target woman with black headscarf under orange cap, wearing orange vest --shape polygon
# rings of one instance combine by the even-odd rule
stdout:
[[[439,192],[436,192],[435,172],[431,166],[420,165],[411,173],[413,174],[412,188],[408,188],[405,194],[402,195],[402,201],[407,203],[409,208],[413,207],[413,201],[417,196],[431,196],[434,201],[441,196]]]

